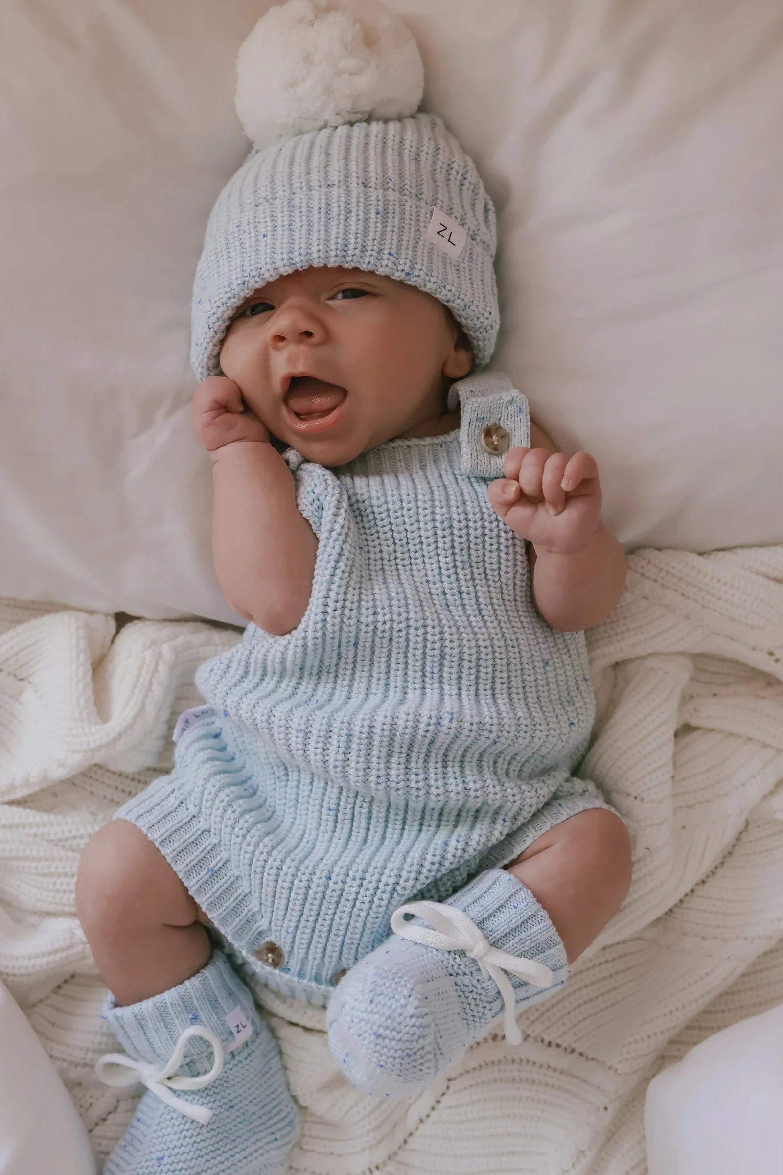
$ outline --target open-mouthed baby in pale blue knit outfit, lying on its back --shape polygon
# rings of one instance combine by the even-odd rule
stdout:
[[[412,53],[372,19],[376,52]],[[355,1087],[413,1094],[499,1015],[519,1041],[628,891],[626,827],[573,774],[582,630],[625,558],[595,461],[487,370],[494,208],[417,105],[257,143],[210,217],[193,423],[249,624],[198,667],[174,771],[82,857],[126,1049],[99,1068],[148,1087],[107,1175],[284,1169],[298,1115],[254,988],[326,1007]]]

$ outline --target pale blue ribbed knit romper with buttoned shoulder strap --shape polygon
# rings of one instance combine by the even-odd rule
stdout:
[[[285,636],[248,625],[202,664],[210,704],[174,771],[117,817],[141,828],[251,983],[326,1005],[406,901],[443,901],[561,820],[607,807],[572,772],[594,717],[585,637],[536,613],[525,543],[493,510],[526,397],[479,372],[460,428],[330,470],[289,450],[318,536]]]

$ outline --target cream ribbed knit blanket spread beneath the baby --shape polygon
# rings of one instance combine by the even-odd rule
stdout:
[[[649,1077],[783,1000],[783,548],[637,551],[588,633],[599,699],[586,772],[634,837],[619,915],[522,1043],[474,1046],[412,1103],[356,1094],[323,1013],[270,999],[304,1107],[292,1171],[643,1175]],[[171,765],[196,665],[239,639],[205,623],[0,600],[0,975],[106,1155],[133,1101],[90,1067],[114,1039],[74,918],[80,850]],[[197,1173],[194,1173],[197,1175]]]

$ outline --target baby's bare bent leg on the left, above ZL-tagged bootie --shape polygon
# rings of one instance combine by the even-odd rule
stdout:
[[[128,820],[110,820],[85,847],[76,913],[117,1003],[168,992],[201,971],[211,953],[198,906]]]

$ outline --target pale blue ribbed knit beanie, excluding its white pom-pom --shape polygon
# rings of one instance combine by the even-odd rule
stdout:
[[[467,234],[458,256],[426,239],[434,208]],[[436,114],[328,127],[254,149],[207,226],[193,291],[194,370],[200,380],[220,372],[225,329],[248,294],[310,266],[366,269],[432,294],[484,368],[500,324],[495,244],[492,200]]]

